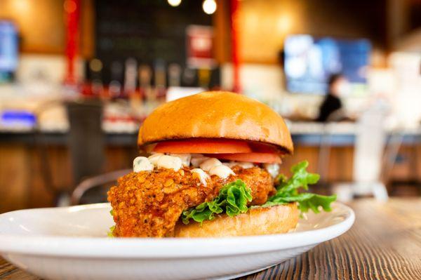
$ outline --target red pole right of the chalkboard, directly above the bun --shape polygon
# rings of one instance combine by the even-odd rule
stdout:
[[[239,59],[239,0],[231,0],[231,52],[234,72],[233,91],[241,91],[240,59]]]

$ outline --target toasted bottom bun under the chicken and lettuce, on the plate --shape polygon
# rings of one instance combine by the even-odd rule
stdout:
[[[297,204],[251,208],[247,213],[229,217],[220,215],[215,220],[190,222],[175,226],[175,237],[227,237],[279,234],[294,229],[298,223]]]

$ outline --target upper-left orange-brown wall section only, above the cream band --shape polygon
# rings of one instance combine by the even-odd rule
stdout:
[[[20,32],[23,53],[65,53],[63,0],[0,0],[0,20],[13,20]],[[95,18],[93,0],[81,1],[80,53],[93,56]]]

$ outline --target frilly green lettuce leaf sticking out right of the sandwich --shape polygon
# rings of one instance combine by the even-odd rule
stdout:
[[[323,208],[324,211],[330,211],[330,204],[336,200],[336,195],[324,196],[299,192],[300,188],[308,190],[309,185],[319,181],[319,174],[309,173],[307,171],[308,166],[308,161],[301,161],[291,168],[291,173],[293,173],[291,178],[288,179],[284,175],[279,175],[276,178],[276,194],[269,197],[262,207],[298,202],[298,208],[302,213],[309,211],[309,209],[312,209],[314,213],[319,213],[320,208]]]

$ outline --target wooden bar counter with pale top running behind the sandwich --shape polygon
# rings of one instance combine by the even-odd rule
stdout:
[[[324,126],[294,122],[288,125],[295,151],[293,156],[283,159],[281,172],[288,174],[290,166],[306,159],[310,163],[309,170],[320,173],[326,182],[352,181],[356,124]],[[137,133],[137,129],[119,133],[105,131],[105,162],[102,164],[102,172],[131,168],[133,159],[138,156]],[[401,137],[401,149],[406,154],[421,158],[421,149],[414,149],[420,147],[421,129],[389,133],[388,138],[392,139],[396,135]],[[46,187],[46,180],[58,192],[69,192],[76,186],[77,182],[72,177],[68,140],[66,131],[0,130],[0,196],[6,201],[0,205],[0,213],[20,208],[53,206],[56,197],[51,187],[50,190]],[[320,161],[323,157],[321,147],[328,147],[330,154],[328,161],[323,163]],[[404,165],[403,168],[397,168],[403,175],[414,166],[418,171],[421,167],[421,164],[410,162]],[[50,178],[43,172],[46,166],[52,171]],[[324,171],[320,166],[325,166]]]

